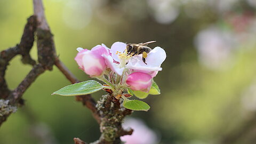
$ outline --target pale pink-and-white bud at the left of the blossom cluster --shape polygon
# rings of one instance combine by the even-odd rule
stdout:
[[[105,51],[107,52],[103,46],[95,46],[92,51],[79,49],[75,60],[78,66],[83,69],[87,75],[91,77],[100,76],[107,68],[105,60],[102,57]]]

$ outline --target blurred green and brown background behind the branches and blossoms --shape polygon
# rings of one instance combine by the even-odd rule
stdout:
[[[157,143],[256,142],[256,1],[43,2],[57,53],[81,81],[90,77],[74,60],[77,47],[157,41],[149,46],[164,48],[167,58],[155,77],[162,93],[144,100],[148,112],[131,115],[155,131]],[[0,1],[1,51],[19,43],[31,14],[32,1]],[[37,59],[35,46],[31,55]],[[30,69],[15,57],[6,73],[9,87]],[[39,76],[23,95],[26,105],[1,126],[0,143],[97,140],[99,126],[82,103],[51,95],[69,84],[56,67]]]

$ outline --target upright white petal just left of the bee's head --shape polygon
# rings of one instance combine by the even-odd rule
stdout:
[[[111,46],[111,49],[110,49],[110,52],[112,54],[112,58],[115,60],[115,61],[118,61],[119,62],[119,57],[118,57],[118,54],[116,54],[116,52],[124,52],[124,50],[126,49],[126,44],[125,43],[122,43],[122,42],[115,42],[112,46]]]

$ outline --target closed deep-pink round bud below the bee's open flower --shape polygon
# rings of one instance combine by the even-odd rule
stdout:
[[[152,77],[146,73],[135,72],[128,75],[126,84],[134,91],[148,92],[152,84]]]

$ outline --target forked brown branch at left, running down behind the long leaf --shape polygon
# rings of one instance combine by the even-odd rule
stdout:
[[[58,59],[55,52],[55,45],[53,41],[53,35],[51,34],[50,27],[47,24],[44,15],[44,8],[42,0],[34,0],[34,15],[28,19],[28,22],[24,28],[21,41],[14,47],[4,50],[0,53],[0,99],[9,100],[10,106],[17,106],[23,104],[22,95],[28,89],[28,87],[36,80],[36,78],[44,73],[45,70],[52,70],[55,64],[71,83],[79,82],[78,79],[70,73],[70,71],[63,65]],[[38,64],[31,59],[30,50],[35,40],[35,34],[37,36],[37,49],[38,49]],[[22,55],[21,61],[25,64],[32,65],[28,75],[13,91],[9,90],[5,81],[5,71],[7,65],[16,55]],[[95,101],[90,95],[84,95],[77,97],[78,101],[82,101],[83,105],[87,106],[93,113],[93,116],[100,123],[100,117],[98,111],[95,108]],[[0,107],[1,108],[1,107]],[[2,113],[1,109],[0,112]],[[0,114],[1,114],[0,113]],[[11,113],[5,114],[0,117],[0,125],[6,121]],[[2,114],[1,114],[2,115]]]

